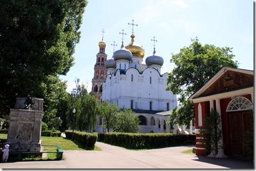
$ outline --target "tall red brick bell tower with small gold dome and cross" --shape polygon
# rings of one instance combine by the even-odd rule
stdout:
[[[100,50],[96,55],[94,76],[92,78],[92,93],[99,101],[100,98],[102,98],[102,84],[107,75],[107,70],[105,67],[105,62],[107,60],[107,54],[105,53],[106,43],[103,40],[103,33],[104,30],[102,30],[102,41],[98,43],[98,47],[100,48]]]

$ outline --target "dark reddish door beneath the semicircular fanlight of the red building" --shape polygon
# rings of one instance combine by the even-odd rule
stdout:
[[[245,132],[250,129],[252,114],[249,110],[229,112],[230,152],[234,157],[246,158]]]

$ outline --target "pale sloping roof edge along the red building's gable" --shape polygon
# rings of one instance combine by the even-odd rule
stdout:
[[[194,93],[192,96],[190,96],[189,99],[194,99],[194,98],[197,98],[198,96],[200,96],[202,93],[204,93],[204,91],[207,88],[209,88],[209,86],[211,86],[217,79],[220,78],[220,76],[222,76],[227,71],[233,71],[233,72],[254,75],[253,70],[244,70],[244,69],[240,69],[240,68],[223,67],[221,70],[219,70],[219,72],[216,73],[216,75],[214,75],[211,78],[211,80],[209,80],[204,86],[202,86],[202,88],[200,88],[200,90],[196,91],[196,93]]]

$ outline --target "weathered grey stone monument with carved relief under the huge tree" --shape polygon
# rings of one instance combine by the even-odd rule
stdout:
[[[5,144],[12,151],[34,151],[41,149],[41,125],[44,99],[16,98],[15,109],[10,109],[10,123]]]

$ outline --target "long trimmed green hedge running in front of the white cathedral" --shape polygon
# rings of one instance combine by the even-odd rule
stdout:
[[[153,149],[196,144],[195,135],[177,135],[164,133],[99,133],[98,141],[107,144],[126,147],[128,149]]]

